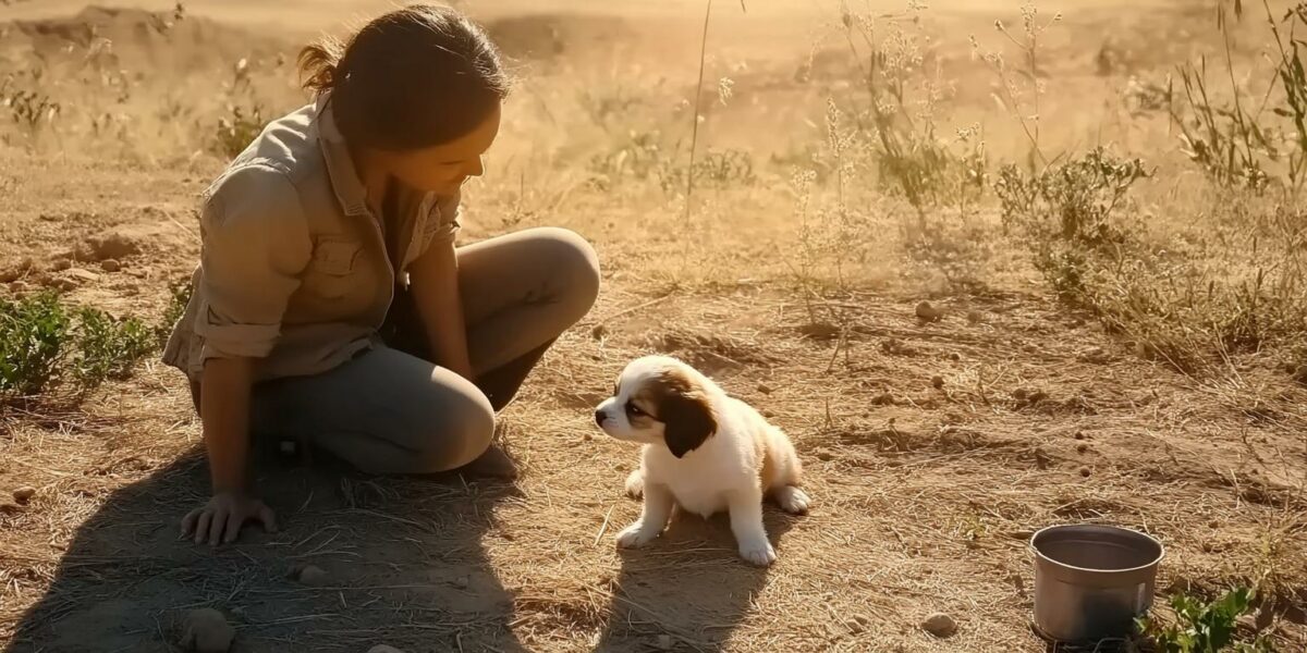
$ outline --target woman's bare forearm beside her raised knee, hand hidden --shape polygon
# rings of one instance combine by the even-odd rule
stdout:
[[[459,296],[459,259],[454,243],[433,243],[409,268],[418,317],[426,328],[434,363],[467,380],[472,377],[467,324]]]

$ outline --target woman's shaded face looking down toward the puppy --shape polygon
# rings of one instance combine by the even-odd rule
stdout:
[[[387,172],[409,188],[452,195],[469,178],[481,176],[481,155],[499,135],[499,107],[474,129],[442,145],[378,155]]]

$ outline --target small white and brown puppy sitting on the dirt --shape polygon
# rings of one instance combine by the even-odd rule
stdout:
[[[763,498],[772,496],[789,513],[808,512],[789,438],[681,360],[633,360],[595,421],[608,435],[644,445],[640,469],[626,481],[633,496],[643,494],[644,508],[617,535],[617,546],[652,542],[677,507],[704,517],[729,511],[740,555],[766,565],[776,551],[762,525]]]

